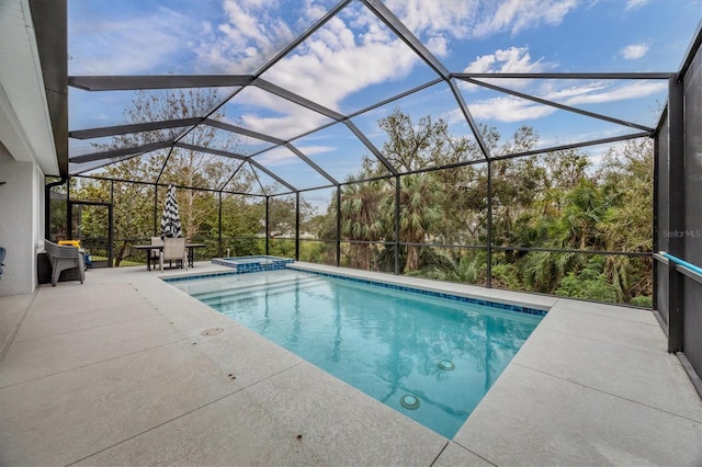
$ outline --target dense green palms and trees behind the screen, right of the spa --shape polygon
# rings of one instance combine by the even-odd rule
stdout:
[[[395,217],[399,213],[400,272],[408,275],[486,284],[484,249],[427,248],[423,244],[478,246],[487,241],[488,170],[485,163],[420,172],[437,166],[482,158],[475,144],[449,134],[442,119],[418,122],[396,110],[378,122],[387,134],[383,156],[400,171],[399,208],[395,182],[346,185],[341,202],[341,236],[358,241],[343,248],[343,263],[393,271]],[[520,127],[511,138],[485,126],[492,153],[533,150],[539,135]],[[492,253],[495,287],[559,294],[607,301],[644,303],[653,292],[650,260],[607,258],[556,250],[650,251],[653,149],[645,139],[612,146],[603,162],[577,150],[503,159],[491,163],[491,241],[507,247]],[[367,180],[387,173],[366,158],[354,176]],[[401,174],[401,172],[411,172]],[[333,200],[326,215],[325,238],[333,238]],[[389,242],[380,249],[378,240]],[[512,248],[509,248],[512,247]],[[377,252],[376,254],[374,252]]]

